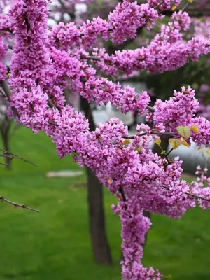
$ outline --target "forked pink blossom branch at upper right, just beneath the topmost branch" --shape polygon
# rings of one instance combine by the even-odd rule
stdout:
[[[183,40],[181,30],[187,30],[189,26],[188,13],[174,13],[172,22],[162,25],[160,34],[156,34],[147,47],[116,51],[114,55],[108,55],[102,48],[94,49],[93,55],[100,58],[95,64],[107,75],[116,76],[118,70],[130,75],[134,71],[163,73],[178,69],[210,52],[207,38],[196,36],[189,41]]]

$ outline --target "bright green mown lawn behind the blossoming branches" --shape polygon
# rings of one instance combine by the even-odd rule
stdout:
[[[87,226],[85,175],[47,179],[45,172],[78,169],[67,157],[57,158],[43,134],[20,128],[12,150],[29,155],[38,167],[14,160],[13,170],[1,169],[0,195],[37,208],[36,214],[0,204],[0,280],[120,280],[120,223],[113,215],[115,199],[105,191],[107,233],[112,267],[92,261]],[[177,280],[210,279],[210,211],[193,209],[181,220],[153,216],[144,264]]]

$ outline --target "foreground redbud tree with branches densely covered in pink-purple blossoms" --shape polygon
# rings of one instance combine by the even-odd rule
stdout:
[[[109,79],[134,71],[172,71],[209,54],[209,38],[183,40],[183,31],[190,26],[184,10],[188,2],[148,0],[138,4],[124,0],[106,20],[97,17],[78,26],[60,22],[51,29],[45,0],[17,0],[7,15],[1,14],[0,80],[8,79],[10,85],[8,114],[34,133],[45,132],[55,142],[59,157],[73,154],[80,167],[94,170],[118,197],[113,211],[122,223],[122,278],[127,280],[162,278],[158,270],[141,264],[142,245],[151,227],[144,211],[180,218],[195,207],[196,201],[202,209],[210,207],[207,170],[198,167],[199,180],[188,183],[181,179],[181,160],[169,159],[172,149],[190,146],[191,141],[209,147],[210,122],[195,115],[199,102],[194,90],[190,86],[174,89],[169,100],[157,99],[151,106],[146,91],[135,92]],[[104,48],[95,48],[98,37],[116,45],[135,38],[137,29],[151,29],[162,19],[162,10],[179,5],[183,9],[172,13],[146,47],[113,55]],[[13,55],[8,75],[3,62],[11,41]],[[111,102],[123,113],[137,110],[146,115],[149,125],[137,125],[136,135],[130,137],[127,127],[113,118],[92,132],[87,118],[66,105],[66,87],[97,105]],[[169,152],[162,149],[160,156],[148,147],[155,141],[161,149],[160,136],[164,134],[170,136],[172,147]]]

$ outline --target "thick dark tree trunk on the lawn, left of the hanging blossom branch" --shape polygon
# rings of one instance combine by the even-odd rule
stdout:
[[[89,120],[90,130],[95,130],[90,104],[81,97],[81,108],[85,111],[85,116]],[[89,167],[87,169],[87,202],[89,210],[90,237],[94,261],[111,265],[111,251],[106,237],[103,186],[94,172]]]

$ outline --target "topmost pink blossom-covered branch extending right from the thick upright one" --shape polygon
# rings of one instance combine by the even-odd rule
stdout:
[[[73,43],[83,45],[83,48],[90,49],[102,36],[105,41],[111,37],[113,43],[123,43],[127,38],[137,36],[137,29],[146,25],[148,28],[155,24],[160,18],[158,11],[148,4],[138,5],[130,0],[118,3],[116,9],[109,14],[108,20],[100,17],[87,20],[77,29],[76,25],[70,22],[67,25],[59,23],[50,32],[50,43],[69,48]]]

